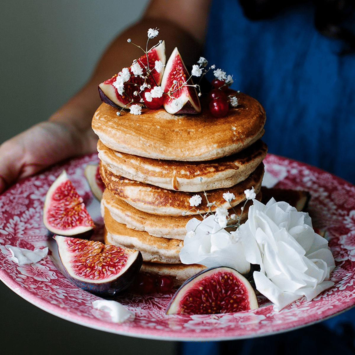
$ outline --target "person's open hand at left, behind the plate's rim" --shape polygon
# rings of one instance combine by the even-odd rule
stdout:
[[[60,122],[41,122],[0,146],[0,193],[60,160],[96,152],[97,136]]]

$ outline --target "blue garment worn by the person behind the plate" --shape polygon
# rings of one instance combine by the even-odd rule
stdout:
[[[263,141],[270,153],[318,166],[355,184],[355,55],[339,56],[343,43],[316,30],[314,11],[312,4],[302,4],[272,19],[251,21],[237,0],[215,0],[204,56],[209,65],[233,75],[233,89],[263,105]],[[355,33],[355,18],[347,26]],[[265,354],[331,354],[346,343],[348,350],[340,353],[355,354],[354,334],[347,337],[344,329],[349,328],[342,323],[354,326],[355,308],[281,335],[219,347],[213,342],[183,343],[181,353],[254,354],[262,348]],[[280,339],[285,339],[287,351],[278,348]],[[338,345],[323,342],[328,350],[319,352],[314,347],[317,339],[333,339]]]

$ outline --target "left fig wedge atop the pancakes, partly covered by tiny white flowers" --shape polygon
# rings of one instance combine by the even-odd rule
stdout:
[[[164,41],[157,47],[150,49],[147,54],[143,54],[140,58],[137,59],[137,63],[141,66],[143,71],[142,76],[147,77],[146,84],[150,85],[152,88],[154,86],[159,86],[163,78],[164,70],[162,69],[160,72],[158,72],[155,69],[155,61],[157,60],[160,60],[163,65],[165,65],[166,57]],[[116,108],[129,108],[133,104],[141,104],[140,95],[134,95],[133,93],[135,91],[140,92],[140,87],[144,83],[144,78],[140,75],[134,75],[132,73],[131,67],[129,67],[128,70],[130,73],[130,78],[124,83],[123,92],[121,94],[114,86],[114,82],[120,73],[115,74],[112,78],[99,84],[100,98],[103,102]]]

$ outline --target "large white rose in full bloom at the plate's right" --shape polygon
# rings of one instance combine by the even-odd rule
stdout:
[[[260,265],[253,273],[256,289],[274,303],[274,310],[302,296],[311,300],[334,285],[329,281],[333,255],[308,213],[273,198],[266,205],[253,200],[238,236],[246,260]]]

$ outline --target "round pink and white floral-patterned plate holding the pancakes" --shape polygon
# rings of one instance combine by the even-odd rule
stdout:
[[[266,170],[279,182],[276,187],[311,193],[309,212],[313,224],[327,230],[337,267],[331,275],[335,285],[312,301],[302,298],[280,312],[260,297],[260,308],[219,315],[167,316],[172,294],[125,294],[118,298],[135,319],[113,323],[107,312],[96,310],[99,297],[78,289],[55,267],[51,256],[35,264],[19,266],[5,245],[33,250],[49,244],[42,222],[45,194],[63,169],[83,197],[102,232],[99,202],[93,197],[84,168],[96,164],[97,155],[86,155],[43,174],[22,180],[0,196],[0,279],[35,306],[71,322],[107,332],[164,340],[226,340],[257,337],[288,331],[319,322],[355,305],[355,187],[312,166],[268,154]]]

